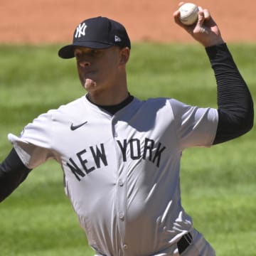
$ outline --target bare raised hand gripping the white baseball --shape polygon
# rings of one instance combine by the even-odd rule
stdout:
[[[183,2],[181,2],[179,6],[181,6],[181,4],[183,4]],[[205,47],[224,43],[220,30],[210,16],[208,9],[202,9],[201,6],[198,6],[198,9],[198,21],[195,24],[186,26],[181,23],[179,19],[180,12],[178,10],[174,12],[174,21]]]

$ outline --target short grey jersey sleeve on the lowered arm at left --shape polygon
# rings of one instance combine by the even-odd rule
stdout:
[[[54,158],[53,129],[52,114],[47,112],[28,124],[20,136],[8,134],[9,141],[29,169],[34,169],[44,161]]]

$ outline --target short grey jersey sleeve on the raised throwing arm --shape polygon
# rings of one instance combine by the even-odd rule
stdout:
[[[170,103],[181,150],[193,146],[211,146],[218,127],[218,111],[210,107],[186,105],[174,99]]]

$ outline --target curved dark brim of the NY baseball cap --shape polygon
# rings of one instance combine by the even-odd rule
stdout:
[[[95,48],[95,49],[104,49],[104,48],[109,48],[111,46],[110,43],[98,43],[98,42],[78,42],[78,43],[73,43],[68,46],[63,46],[63,48],[60,48],[58,51],[58,55],[60,58],[74,58],[74,50],[76,47],[81,46],[81,47],[87,47],[87,48]]]

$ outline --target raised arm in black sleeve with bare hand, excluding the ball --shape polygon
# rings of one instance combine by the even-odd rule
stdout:
[[[206,48],[210,59],[218,94],[218,128],[213,144],[218,144],[252,129],[253,102],[246,82],[223,41],[220,29],[207,9],[199,7],[199,10],[198,21],[192,26],[181,23],[179,11],[174,12],[174,21]]]

